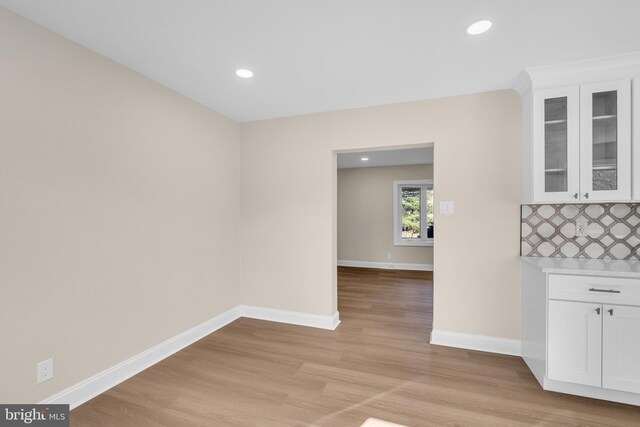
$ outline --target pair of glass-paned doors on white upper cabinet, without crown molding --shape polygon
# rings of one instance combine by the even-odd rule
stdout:
[[[631,80],[533,93],[533,202],[631,200]]]

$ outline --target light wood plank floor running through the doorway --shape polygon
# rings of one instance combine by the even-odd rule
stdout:
[[[541,390],[518,357],[429,345],[430,273],[338,273],[336,331],[239,319],[75,409],[71,424],[640,425],[640,408]]]

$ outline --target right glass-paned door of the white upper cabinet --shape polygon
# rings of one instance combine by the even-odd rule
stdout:
[[[580,199],[631,199],[631,81],[580,87]]]

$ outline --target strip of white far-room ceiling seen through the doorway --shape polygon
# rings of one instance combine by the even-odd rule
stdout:
[[[369,160],[363,161],[366,157]],[[338,153],[338,169],[433,163],[433,147]]]

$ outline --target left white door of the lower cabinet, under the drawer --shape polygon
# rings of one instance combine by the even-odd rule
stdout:
[[[602,306],[549,300],[548,327],[547,376],[600,387]]]

